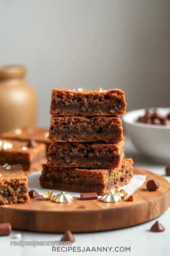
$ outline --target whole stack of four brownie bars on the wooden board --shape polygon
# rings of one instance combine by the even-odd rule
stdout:
[[[124,158],[119,115],[126,112],[119,89],[87,91],[53,89],[47,164],[42,165],[43,188],[96,192],[130,182],[132,159]]]

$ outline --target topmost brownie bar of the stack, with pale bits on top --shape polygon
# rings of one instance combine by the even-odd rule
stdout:
[[[87,91],[53,89],[50,114],[53,116],[118,116],[126,112],[125,93],[119,89]]]

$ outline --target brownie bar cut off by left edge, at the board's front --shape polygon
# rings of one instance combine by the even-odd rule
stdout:
[[[0,204],[29,201],[28,180],[21,165],[0,166]]]

